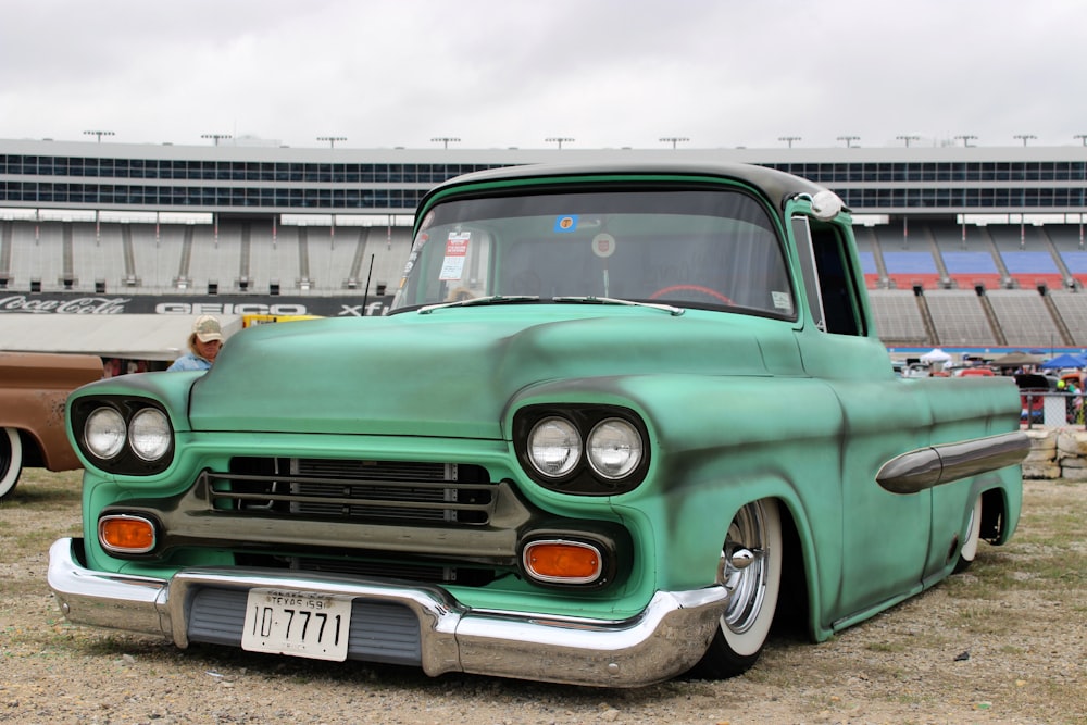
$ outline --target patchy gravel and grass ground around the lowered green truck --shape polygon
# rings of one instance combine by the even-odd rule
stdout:
[[[180,651],[73,626],[46,551],[78,532],[77,493],[39,505],[34,488],[0,505],[0,722],[1087,723],[1083,484],[1027,482],[1010,545],[983,545],[969,572],[829,642],[777,638],[742,677],[636,690]]]

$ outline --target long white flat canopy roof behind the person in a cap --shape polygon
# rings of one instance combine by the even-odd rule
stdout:
[[[176,360],[199,315],[0,314],[0,350],[64,352],[125,360]],[[241,315],[221,315],[224,337],[241,329]]]

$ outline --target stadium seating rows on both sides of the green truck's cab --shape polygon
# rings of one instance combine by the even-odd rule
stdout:
[[[950,223],[913,222],[909,239],[900,228],[858,228],[880,338],[890,347],[1087,347],[1078,226],[1021,232],[967,227],[963,249],[962,227]],[[382,295],[396,289],[411,229],[3,221],[0,242],[0,292]]]

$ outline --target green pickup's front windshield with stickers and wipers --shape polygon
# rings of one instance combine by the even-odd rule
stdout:
[[[526,297],[778,317],[792,317],[795,309],[766,211],[746,193],[704,188],[552,190],[439,203],[418,226],[392,309]]]

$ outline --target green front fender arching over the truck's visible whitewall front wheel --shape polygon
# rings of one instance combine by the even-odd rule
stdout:
[[[704,586],[716,574],[736,511],[771,498],[799,533],[812,621],[834,609],[844,546],[845,420],[829,387],[769,376],[562,380],[523,391],[511,415],[525,404],[572,401],[623,405],[646,422],[652,451],[647,478],[610,501],[641,547],[635,555],[653,562],[650,582]]]

